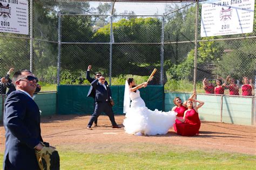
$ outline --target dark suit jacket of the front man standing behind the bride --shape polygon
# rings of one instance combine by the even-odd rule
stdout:
[[[103,84],[99,82],[98,79],[91,83],[93,89],[95,89],[95,101],[96,102],[105,102],[111,100],[111,90],[109,85],[105,84],[106,89],[104,88]]]

